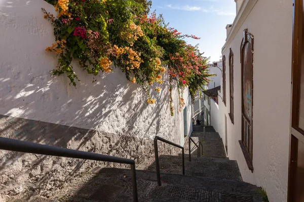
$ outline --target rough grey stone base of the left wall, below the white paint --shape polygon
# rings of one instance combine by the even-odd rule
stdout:
[[[109,134],[96,130],[0,115],[0,136],[56,145],[93,153],[135,159],[136,164],[154,158],[152,139]],[[159,143],[159,154],[175,155],[180,149]],[[96,167],[128,165],[17,153],[0,150],[0,201],[51,196],[73,177]]]

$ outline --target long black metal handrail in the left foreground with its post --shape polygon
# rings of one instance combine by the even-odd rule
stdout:
[[[10,151],[20,151],[23,153],[31,153],[31,154],[39,154],[39,155],[49,155],[49,156],[57,156],[57,157],[68,157],[74,159],[86,159],[86,160],[130,164],[133,201],[138,202],[135,161],[132,159],[100,155],[87,151],[80,151],[80,150],[62,148],[58,146],[32,143],[32,142],[10,139],[5,137],[0,137],[0,149],[10,150]]]

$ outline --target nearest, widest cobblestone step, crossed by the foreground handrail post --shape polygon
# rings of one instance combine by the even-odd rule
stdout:
[[[104,168],[98,174],[92,175],[89,181],[78,181],[69,185],[78,186],[79,189],[62,192],[61,196],[56,197],[74,202],[132,201],[130,176],[130,170],[127,169]],[[155,172],[137,171],[136,176],[139,201],[144,202],[262,201],[258,187],[240,181],[162,174],[162,186],[158,186]]]

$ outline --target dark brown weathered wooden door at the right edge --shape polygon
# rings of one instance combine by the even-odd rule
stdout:
[[[304,202],[304,8],[293,4],[292,121],[288,201]]]

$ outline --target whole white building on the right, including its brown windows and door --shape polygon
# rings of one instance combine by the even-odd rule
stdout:
[[[275,202],[304,201],[304,133],[294,125],[294,117],[300,122],[304,115],[295,109],[304,102],[294,101],[300,97],[294,93],[303,88],[292,86],[299,75],[292,77],[292,45],[299,44],[292,40],[292,16],[302,22],[302,14],[297,16],[297,9],[303,13],[302,1],[294,5],[287,0],[236,0],[237,16],[226,27],[222,47],[219,117],[212,120],[243,180],[264,188]]]

